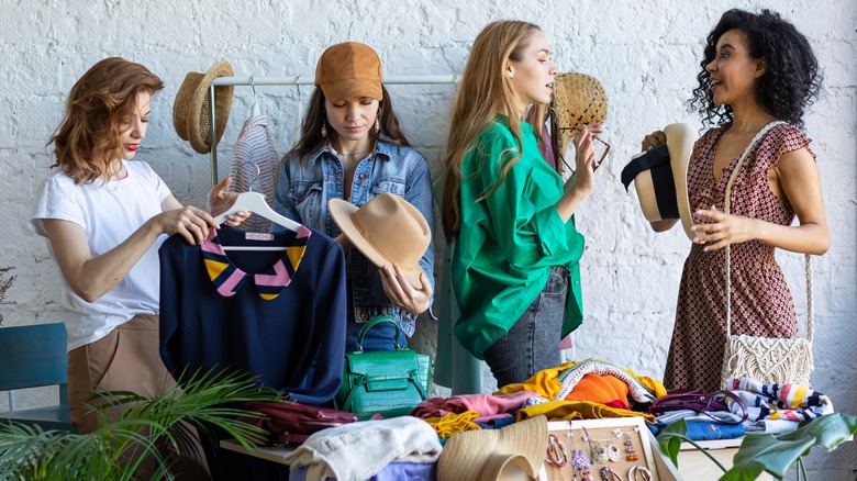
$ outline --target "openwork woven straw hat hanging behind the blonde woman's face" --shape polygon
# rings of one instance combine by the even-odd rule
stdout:
[[[554,97],[550,100],[550,122],[554,139],[565,155],[568,142],[583,125],[603,123],[608,113],[604,87],[591,75],[566,72],[556,76]]]

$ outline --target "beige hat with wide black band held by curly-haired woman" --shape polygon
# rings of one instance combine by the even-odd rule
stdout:
[[[631,182],[637,191],[643,215],[649,222],[680,219],[685,233],[692,240],[693,220],[688,198],[688,164],[693,152],[693,127],[676,123],[664,127],[667,143],[635,155],[622,169],[625,189]]]

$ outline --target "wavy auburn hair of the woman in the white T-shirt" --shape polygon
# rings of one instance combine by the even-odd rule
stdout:
[[[56,164],[75,183],[105,177],[122,155],[122,120],[136,108],[137,94],[155,94],[164,82],[146,67],[110,57],[97,63],[71,88],[66,115],[47,145]]]

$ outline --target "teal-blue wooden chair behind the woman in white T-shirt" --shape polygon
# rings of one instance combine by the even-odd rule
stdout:
[[[62,323],[0,327],[0,391],[9,391],[9,421],[36,424],[45,430],[77,432],[68,409],[68,355],[66,328]],[[14,390],[59,385],[59,404],[16,410]]]

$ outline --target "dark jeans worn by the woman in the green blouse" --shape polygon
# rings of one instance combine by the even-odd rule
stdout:
[[[568,268],[552,268],[538,297],[509,332],[485,351],[485,361],[498,387],[526,381],[543,369],[559,366],[568,282]]]

